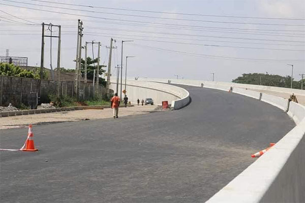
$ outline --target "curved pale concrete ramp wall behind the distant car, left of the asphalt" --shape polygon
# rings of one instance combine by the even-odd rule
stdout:
[[[111,81],[116,81],[115,78],[111,78]],[[111,82],[111,89],[116,89],[116,82]],[[123,89],[125,85],[123,86]],[[120,89],[120,87],[119,87]],[[167,100],[169,104],[177,100],[174,103],[174,106],[182,108],[183,105],[188,104],[186,102],[189,98],[189,92],[183,88],[167,85],[164,83],[155,83],[147,81],[138,81],[138,80],[127,80],[126,94],[129,98],[129,101],[132,103],[137,103],[137,99],[140,101],[145,98],[153,98],[154,104],[162,105],[162,101]],[[123,97],[122,93],[122,97]]]

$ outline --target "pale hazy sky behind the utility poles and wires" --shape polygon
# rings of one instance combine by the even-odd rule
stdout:
[[[60,66],[75,69],[81,19],[82,45],[101,42],[101,64],[108,64],[110,38],[116,40],[112,76],[121,61],[121,41],[133,40],[124,43],[124,75],[126,56],[135,56],[128,58],[128,77],[211,81],[215,73],[215,81],[229,82],[243,73],[291,75],[287,64],[293,64],[293,78],[300,80],[305,73],[304,11],[302,0],[0,0],[0,55],[9,49],[10,56],[28,57],[28,65],[40,66],[41,23],[52,23],[62,25]],[[50,33],[48,26],[45,33]],[[58,35],[56,27],[52,35]],[[97,45],[94,51],[88,46],[88,56],[93,52],[96,57]],[[45,38],[45,67],[50,62],[56,67],[56,56],[57,39],[50,51],[50,38]]]

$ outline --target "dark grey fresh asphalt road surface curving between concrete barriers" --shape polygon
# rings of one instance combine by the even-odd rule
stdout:
[[[186,88],[180,110],[34,126],[40,151],[1,151],[0,201],[204,202],[294,126],[262,101]],[[27,129],[0,133],[19,149]]]

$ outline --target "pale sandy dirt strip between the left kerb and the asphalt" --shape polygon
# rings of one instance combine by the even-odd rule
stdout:
[[[146,114],[155,111],[157,106],[134,106],[127,108],[119,108],[118,115],[129,116]],[[16,127],[27,127],[29,124],[44,124],[52,122],[71,122],[80,120],[94,120],[101,118],[112,118],[112,109],[103,110],[78,110],[78,111],[66,111],[66,112],[56,112],[56,113],[46,113],[46,114],[32,114],[32,115],[22,115],[22,116],[11,116],[11,117],[1,117],[0,118],[0,129],[16,128]]]

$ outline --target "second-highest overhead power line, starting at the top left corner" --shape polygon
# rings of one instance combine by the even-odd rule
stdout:
[[[228,22],[228,21],[194,20],[194,19],[183,19],[183,18],[166,18],[166,17],[154,17],[154,16],[141,16],[141,15],[131,15],[131,14],[116,14],[116,13],[110,13],[110,12],[98,12],[98,11],[88,11],[88,10],[81,10],[81,9],[72,9],[72,8],[47,6],[47,5],[37,5],[37,4],[31,4],[31,3],[16,2],[16,1],[11,1],[11,0],[3,0],[3,1],[19,3],[19,4],[25,4],[25,5],[42,6],[42,7],[48,7],[48,8],[65,9],[65,10],[72,10],[72,11],[82,11],[82,12],[89,12],[89,13],[102,13],[102,14],[109,14],[109,15],[131,16],[131,17],[142,17],[142,18],[154,18],[154,19],[166,19],[166,20],[182,20],[182,21],[193,21],[193,22],[228,23],[228,24],[251,24],[251,25],[305,26],[304,24],[272,24],[272,23]],[[6,5],[6,4],[3,4],[3,5]],[[7,5],[7,6],[12,6],[12,5]],[[34,9],[34,8],[27,8],[27,9]],[[49,11],[49,12],[51,12],[51,11]],[[54,12],[54,11],[52,11],[52,12]],[[89,16],[86,16],[86,17],[89,17]]]

